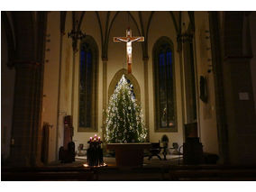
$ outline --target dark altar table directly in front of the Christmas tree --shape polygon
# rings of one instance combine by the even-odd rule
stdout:
[[[115,151],[115,162],[118,167],[141,167],[143,152],[150,148],[150,142],[106,144],[106,149]]]

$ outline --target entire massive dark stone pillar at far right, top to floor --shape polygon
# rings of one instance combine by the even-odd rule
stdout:
[[[256,123],[251,85],[250,33],[243,12],[209,13],[219,148],[225,164],[255,164]],[[245,31],[246,32],[246,31]],[[244,50],[244,45],[246,49]]]

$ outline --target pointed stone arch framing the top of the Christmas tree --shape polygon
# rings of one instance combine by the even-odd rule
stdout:
[[[123,75],[125,76],[125,78],[129,79],[130,82],[133,84],[134,95],[135,95],[137,101],[139,103],[141,103],[141,89],[140,89],[139,83],[138,83],[137,79],[133,76],[133,74],[131,74],[131,73],[128,74],[127,69],[120,69],[114,74],[114,78],[112,78],[112,80],[109,84],[109,87],[108,87],[108,99],[114,93],[114,88],[115,88],[116,84],[118,83],[118,81],[120,80],[120,78],[122,78]]]

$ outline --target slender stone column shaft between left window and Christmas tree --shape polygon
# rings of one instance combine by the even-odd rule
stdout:
[[[107,104],[107,58],[102,58],[102,65],[103,65],[103,78],[102,78],[102,96],[103,96],[103,110],[106,110]],[[105,115],[102,118],[102,136],[103,141],[105,141]]]

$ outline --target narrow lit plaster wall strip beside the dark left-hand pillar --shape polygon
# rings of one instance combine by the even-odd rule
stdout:
[[[59,79],[59,12],[48,14],[47,34],[50,41],[46,43],[43,100],[41,127],[43,123],[50,123],[49,161],[55,160],[56,129],[57,129],[57,103],[58,103],[58,79]]]

